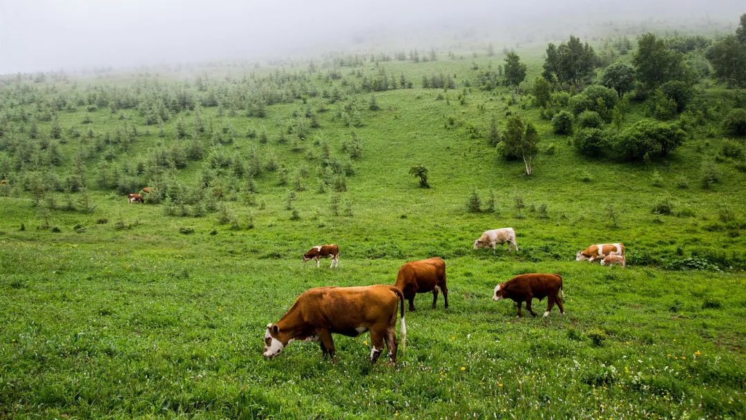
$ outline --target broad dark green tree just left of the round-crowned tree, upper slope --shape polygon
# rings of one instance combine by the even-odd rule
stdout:
[[[559,47],[548,44],[542,76],[547,80],[556,78],[560,86],[565,83],[580,90],[593,78],[597,64],[598,56],[593,48],[571,35],[570,40]]]

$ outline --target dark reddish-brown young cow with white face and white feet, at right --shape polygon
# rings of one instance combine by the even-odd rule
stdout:
[[[521,317],[521,302],[526,302],[526,309],[531,313],[531,316],[536,316],[531,309],[531,299],[537,298],[541,301],[545,297],[549,297],[547,310],[544,316],[549,316],[549,311],[552,310],[554,304],[560,308],[560,313],[565,313],[565,307],[562,305],[562,298],[565,298],[565,292],[562,292],[562,277],[556,274],[524,274],[517,275],[505,283],[500,283],[495,286],[495,294],[492,295],[492,300],[499,301],[500,299],[508,298],[515,302],[518,307],[518,318]]]

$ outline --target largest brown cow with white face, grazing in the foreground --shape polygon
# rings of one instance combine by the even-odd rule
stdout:
[[[336,362],[331,334],[371,334],[370,362],[375,363],[389,348],[389,362],[396,363],[396,316],[401,313],[401,348],[407,342],[404,295],[395,286],[377,284],[363,287],[315,287],[303,292],[295,304],[264,333],[264,357],[280,354],[293,341],[319,342],[322,358]]]

